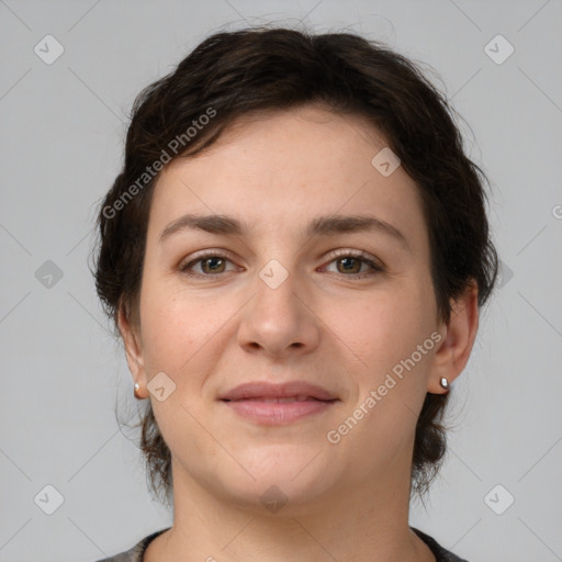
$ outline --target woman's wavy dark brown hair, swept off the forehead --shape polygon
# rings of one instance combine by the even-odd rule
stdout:
[[[200,153],[240,115],[310,103],[366,119],[384,134],[416,182],[440,318],[450,319],[450,300],[473,281],[479,306],[484,304],[497,276],[485,212],[487,179],[464,154],[446,97],[413,61],[382,43],[349,33],[260,26],[210,36],[133,104],[123,169],[98,216],[95,284],[115,326],[121,306],[131,317],[138,312],[148,213],[158,178],[146,176],[146,170],[162,160],[164,151],[170,160]],[[203,123],[202,115],[211,115],[210,109],[213,117],[189,134],[190,127]],[[182,139],[180,150],[177,139]],[[416,427],[413,491],[426,491],[439,469],[446,451],[447,401],[448,395],[426,395]],[[140,448],[151,490],[164,490],[169,499],[171,454],[149,401]]]

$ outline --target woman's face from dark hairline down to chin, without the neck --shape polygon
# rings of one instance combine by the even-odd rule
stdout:
[[[445,330],[416,187],[371,164],[385,146],[308,106],[245,117],[162,171],[127,358],[145,389],[164,373],[150,400],[176,488],[261,507],[277,486],[296,507],[409,474]],[[187,214],[228,220],[178,227]],[[294,382],[331,401],[222,400]]]

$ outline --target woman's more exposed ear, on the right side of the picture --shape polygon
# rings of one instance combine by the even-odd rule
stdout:
[[[479,329],[477,285],[475,282],[464,293],[451,301],[451,317],[439,330],[443,335],[441,346],[434,356],[427,392],[445,394],[439,381],[447,379],[449,384],[459,376],[469,361],[472,346]]]

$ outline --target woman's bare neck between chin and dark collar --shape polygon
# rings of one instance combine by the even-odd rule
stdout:
[[[331,488],[328,496],[276,513],[210,493],[173,470],[173,527],[155,539],[145,562],[435,562],[408,526],[409,472],[389,471]],[[177,477],[180,473],[182,477]]]

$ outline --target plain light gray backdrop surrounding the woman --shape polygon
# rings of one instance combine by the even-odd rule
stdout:
[[[0,0],[0,561],[93,561],[171,524],[115,420],[116,402],[125,420],[136,404],[88,270],[95,209],[136,93],[212,32],[272,21],[346,27],[427,63],[470,124],[503,286],[411,522],[471,562],[562,560],[560,0]],[[64,47],[50,65],[34,52],[47,34]],[[485,50],[498,34],[515,48],[502,64]],[[46,485],[64,497],[53,515]]]

